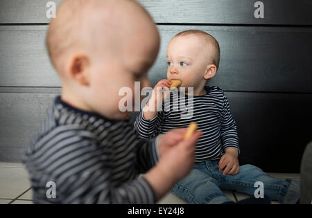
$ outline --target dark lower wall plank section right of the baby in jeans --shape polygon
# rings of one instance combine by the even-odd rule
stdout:
[[[241,165],[299,173],[312,140],[312,95],[226,92],[239,131]]]

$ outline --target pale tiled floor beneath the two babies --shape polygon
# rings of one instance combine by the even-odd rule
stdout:
[[[275,174],[270,173],[277,178],[289,178],[299,180],[299,174]],[[232,201],[242,200],[248,197],[247,194],[238,192],[224,191]],[[1,163],[0,162],[0,204],[31,204],[32,192],[31,184],[28,181],[28,174],[24,165],[21,163]],[[166,194],[158,203],[187,203],[176,197],[172,193]],[[278,203],[272,201],[272,203]]]

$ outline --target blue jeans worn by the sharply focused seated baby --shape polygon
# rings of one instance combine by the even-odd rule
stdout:
[[[189,203],[225,203],[229,200],[223,190],[235,190],[254,196],[263,183],[263,194],[279,203],[297,203],[300,196],[298,181],[277,179],[263,172],[254,165],[241,165],[239,173],[223,176],[218,170],[218,161],[203,161],[195,163],[193,170],[173,187],[173,193]]]

